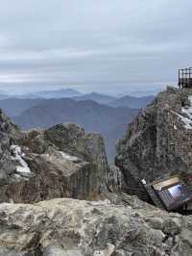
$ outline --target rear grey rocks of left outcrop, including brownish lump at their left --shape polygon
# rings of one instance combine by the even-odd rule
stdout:
[[[76,124],[61,123],[47,130],[32,129],[20,141],[31,153],[42,154],[51,145],[71,156],[98,166],[102,175],[107,174],[108,160],[105,142],[101,135],[85,133]]]

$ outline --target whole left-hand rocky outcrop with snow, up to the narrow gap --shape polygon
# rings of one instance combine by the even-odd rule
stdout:
[[[86,134],[75,124],[60,124],[20,132],[17,137],[12,133],[12,138],[7,157],[15,179],[0,186],[0,201],[102,198],[109,168],[100,135]]]

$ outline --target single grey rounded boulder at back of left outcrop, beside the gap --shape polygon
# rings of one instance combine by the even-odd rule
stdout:
[[[75,124],[58,124],[45,131],[45,140],[51,141],[61,151],[77,156],[98,166],[100,183],[107,175],[108,160],[105,142],[101,135],[85,133]]]

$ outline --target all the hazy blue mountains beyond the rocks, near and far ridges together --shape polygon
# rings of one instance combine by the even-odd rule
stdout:
[[[86,131],[101,133],[111,160],[115,141],[122,137],[127,123],[153,99],[154,96],[116,98],[97,92],[46,90],[12,98],[2,94],[2,99],[0,94],[0,108],[22,129],[74,122]]]

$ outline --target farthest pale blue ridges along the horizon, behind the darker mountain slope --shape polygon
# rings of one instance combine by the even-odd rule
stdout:
[[[76,94],[76,96],[73,96]],[[77,95],[78,94],[78,95]],[[2,97],[1,97],[2,96]],[[41,97],[40,97],[41,96]],[[72,98],[76,101],[93,100],[99,104],[105,104],[109,107],[126,107],[131,109],[140,109],[151,103],[154,96],[132,97],[129,95],[115,98],[102,93],[91,92],[83,94],[78,90],[48,90],[36,93],[24,94],[20,96],[12,96],[0,94],[0,108],[7,115],[21,115],[27,109],[43,102],[46,97],[49,98]]]

